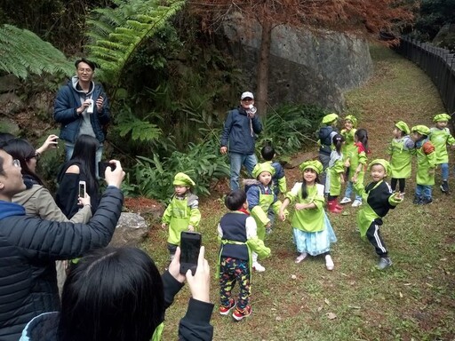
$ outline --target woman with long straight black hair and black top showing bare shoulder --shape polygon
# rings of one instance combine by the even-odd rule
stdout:
[[[60,171],[59,189],[55,201],[60,210],[68,217],[73,217],[79,210],[79,181],[85,181],[86,193],[90,195],[92,213],[100,202],[99,184],[96,178],[95,157],[100,143],[89,135],[81,135],[76,140],[74,153]]]

